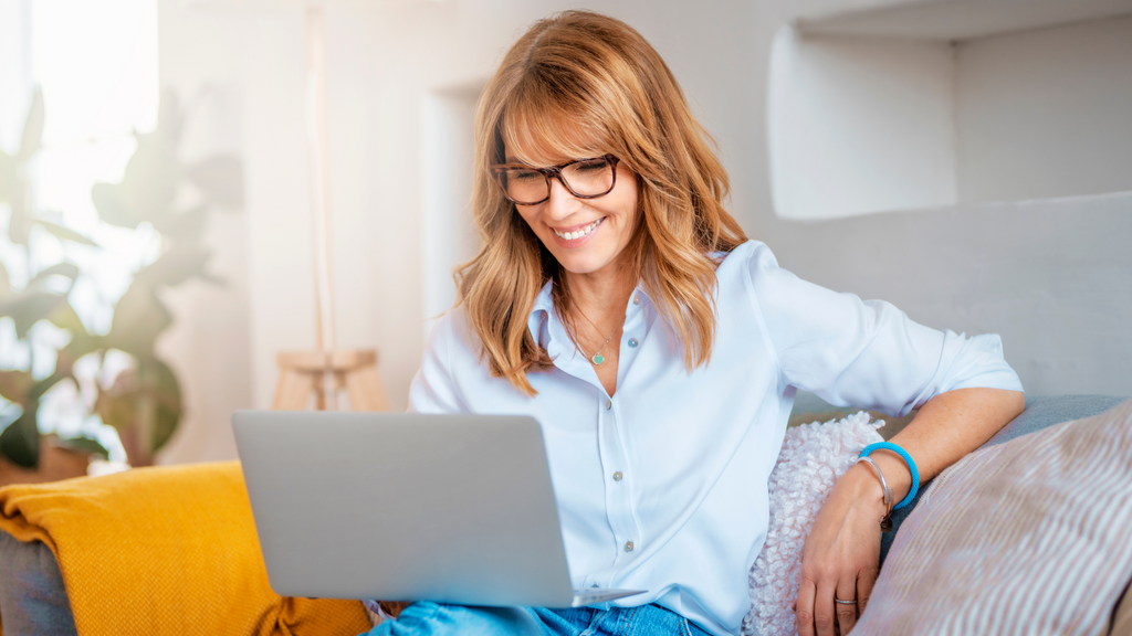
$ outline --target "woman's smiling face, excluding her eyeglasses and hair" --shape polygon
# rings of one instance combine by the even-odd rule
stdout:
[[[544,167],[583,158],[537,157],[540,163],[533,163],[516,155],[508,151],[507,163]],[[636,173],[617,162],[614,189],[595,199],[580,199],[557,179],[550,179],[549,199],[515,208],[567,272],[617,272],[618,257],[629,243],[638,216]]]

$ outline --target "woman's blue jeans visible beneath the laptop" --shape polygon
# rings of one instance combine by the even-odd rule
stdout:
[[[471,608],[417,602],[365,636],[707,636],[660,605],[573,608]]]

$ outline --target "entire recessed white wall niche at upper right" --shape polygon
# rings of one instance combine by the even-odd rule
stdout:
[[[1132,16],[952,42],[902,34],[917,11],[961,3],[904,5],[884,9],[899,29],[867,23],[885,35],[846,35],[861,25],[839,18],[775,37],[780,217],[1132,190]]]

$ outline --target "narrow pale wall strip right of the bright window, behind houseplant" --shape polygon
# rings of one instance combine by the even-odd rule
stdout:
[[[246,158],[249,93],[241,52],[252,24],[185,14],[172,2],[158,5],[157,19],[160,83],[177,91],[190,111],[182,158],[216,152]],[[194,55],[185,54],[190,50]],[[246,162],[246,169],[254,165]],[[181,380],[185,415],[158,457],[162,463],[235,456],[229,418],[252,405],[249,221],[247,210],[217,212],[208,221],[209,268],[223,286],[190,281],[164,295],[175,320],[158,347]]]

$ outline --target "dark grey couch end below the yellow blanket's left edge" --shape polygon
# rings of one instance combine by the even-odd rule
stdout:
[[[74,636],[75,616],[51,550],[0,531],[0,616],[7,636]]]

